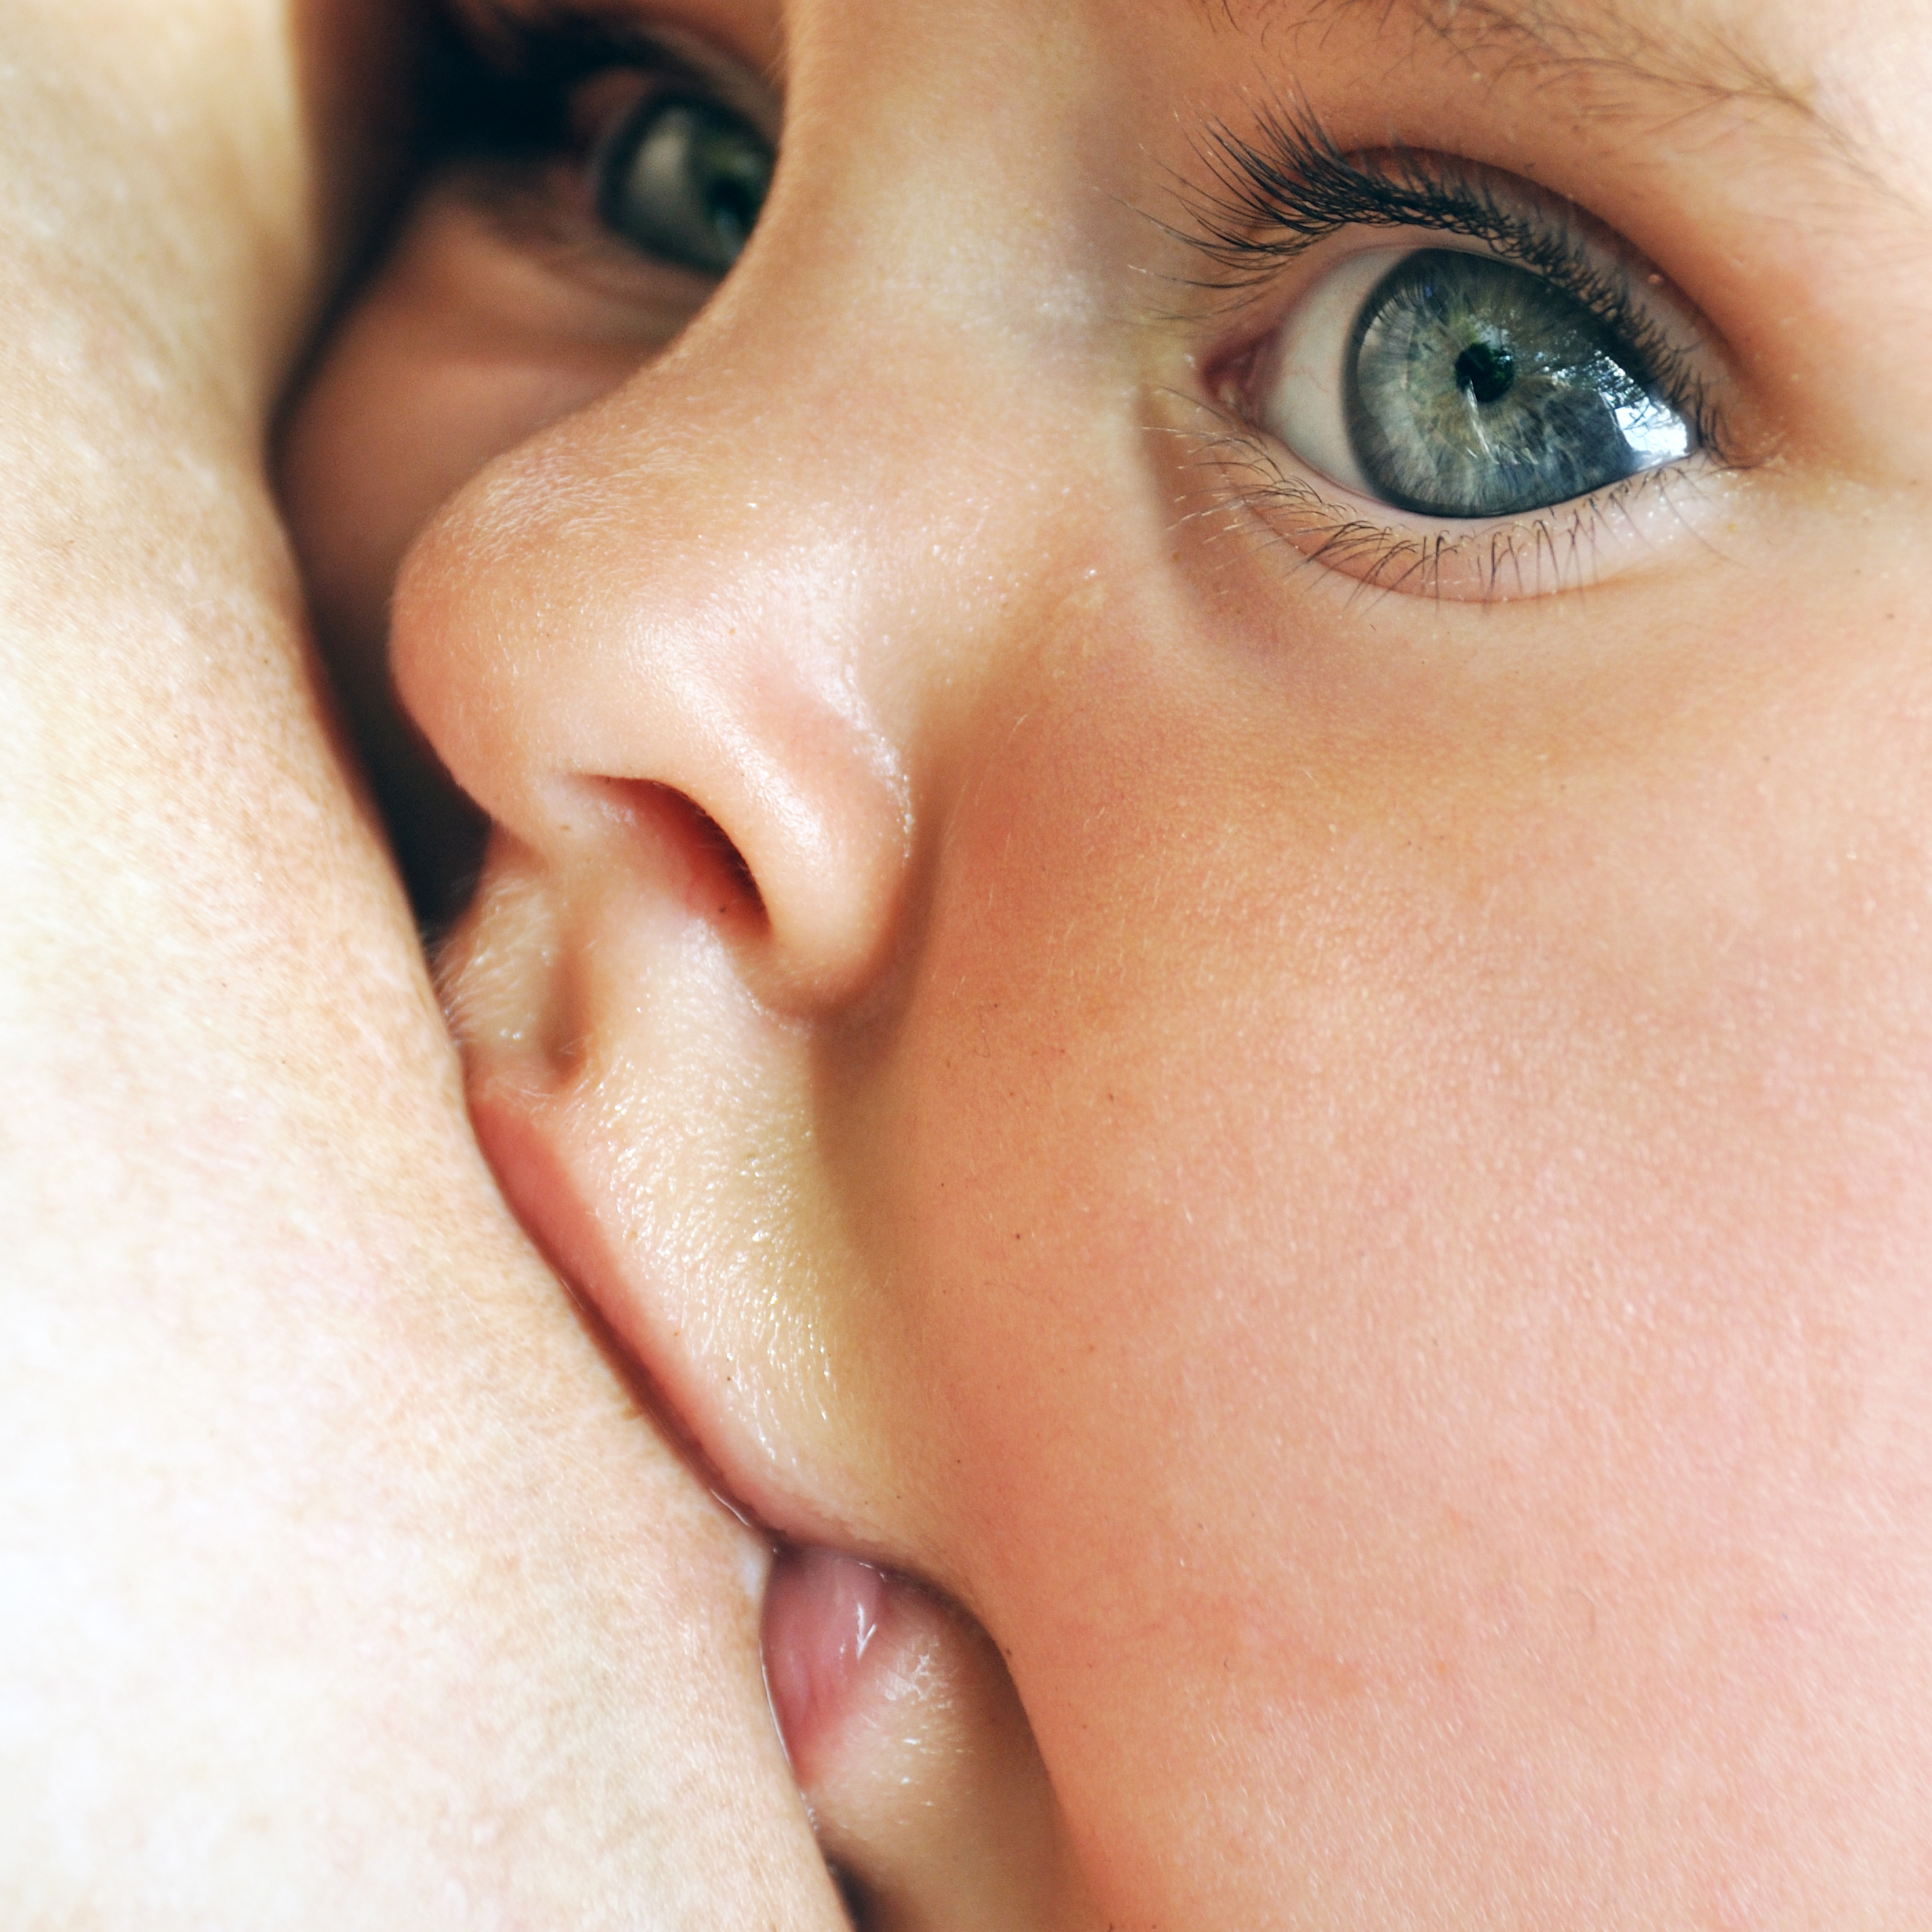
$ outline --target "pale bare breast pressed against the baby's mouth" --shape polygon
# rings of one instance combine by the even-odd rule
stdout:
[[[763,1549],[477,1157],[269,500],[394,21],[0,15],[0,1918],[831,1932]]]

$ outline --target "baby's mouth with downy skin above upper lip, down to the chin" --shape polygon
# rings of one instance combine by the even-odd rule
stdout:
[[[442,985],[471,1122],[639,1406],[775,1546],[765,1683],[854,1922],[1103,1926],[999,1648],[877,1561],[916,1528],[896,1499],[906,1445],[871,1435],[891,1410],[854,1389],[864,1360],[811,1300],[838,1250],[794,1244],[806,1236],[779,1215],[790,1171],[773,1182],[767,1163],[769,1095],[744,1113],[734,1084],[746,1066],[769,1072],[792,1036],[715,999],[707,933],[680,902],[582,881],[574,898],[570,883],[502,838],[450,941]],[[690,1024],[694,999],[713,1001],[705,1026]],[[746,1146],[765,1165],[748,1167]]]

